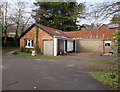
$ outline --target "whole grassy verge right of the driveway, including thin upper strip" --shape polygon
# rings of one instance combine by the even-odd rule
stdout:
[[[112,61],[113,61],[113,59],[90,60],[90,62],[98,63],[99,65],[103,65],[103,64],[111,65],[110,70],[94,72],[92,74],[92,77],[97,79],[99,82],[110,86],[113,89],[117,89],[117,87],[118,87],[118,74],[117,74],[118,66]]]

